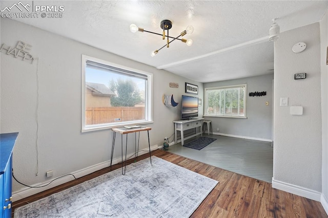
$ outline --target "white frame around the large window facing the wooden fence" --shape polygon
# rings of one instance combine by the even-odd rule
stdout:
[[[147,77],[147,87],[146,87],[146,96],[145,96],[145,120],[138,121],[126,121],[126,122],[117,122],[117,123],[103,123],[103,124],[94,124],[86,125],[86,67],[87,61],[92,61],[99,64],[105,64],[106,66],[118,68],[123,71],[129,71],[136,74],[141,74]],[[122,72],[124,73],[124,72]],[[128,74],[128,73],[127,73]],[[82,55],[81,57],[81,132],[90,132],[101,129],[110,129],[116,127],[122,127],[126,125],[141,125],[147,123],[153,123],[153,74],[145,71],[140,71],[137,69],[129,68],[122,66],[117,63],[113,63],[107,60],[90,57],[87,55]]]

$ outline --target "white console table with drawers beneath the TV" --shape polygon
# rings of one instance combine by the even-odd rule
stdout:
[[[192,137],[201,135],[202,136],[202,122],[204,118],[194,118],[189,120],[175,120],[174,123],[174,143],[176,144],[178,141],[177,133],[180,131],[181,133],[181,145],[185,144],[185,140],[190,139]],[[183,136],[183,132],[188,129],[194,129],[194,134],[188,137]],[[199,132],[197,132],[197,128],[199,128]]]

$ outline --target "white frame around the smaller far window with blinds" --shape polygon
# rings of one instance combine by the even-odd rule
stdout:
[[[231,89],[231,88],[241,88],[244,87],[244,114],[243,115],[213,115],[208,114],[208,95],[207,91],[209,90],[225,90],[225,89]],[[237,85],[226,85],[226,86],[215,86],[215,87],[209,87],[204,88],[204,117],[222,117],[222,118],[240,118],[240,119],[247,119],[246,116],[246,105],[247,105],[247,84],[237,84]]]

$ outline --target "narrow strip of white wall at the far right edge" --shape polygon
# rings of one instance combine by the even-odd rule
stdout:
[[[321,43],[321,116],[322,116],[322,198],[321,203],[328,213],[328,11],[320,22]]]

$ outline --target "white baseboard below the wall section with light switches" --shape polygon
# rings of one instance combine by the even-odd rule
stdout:
[[[320,199],[322,198],[321,193],[318,191],[309,188],[304,188],[298,185],[293,185],[290,183],[281,182],[273,178],[272,178],[272,187],[292,194],[297,194],[301,197],[308,198],[318,202],[320,202]]]

